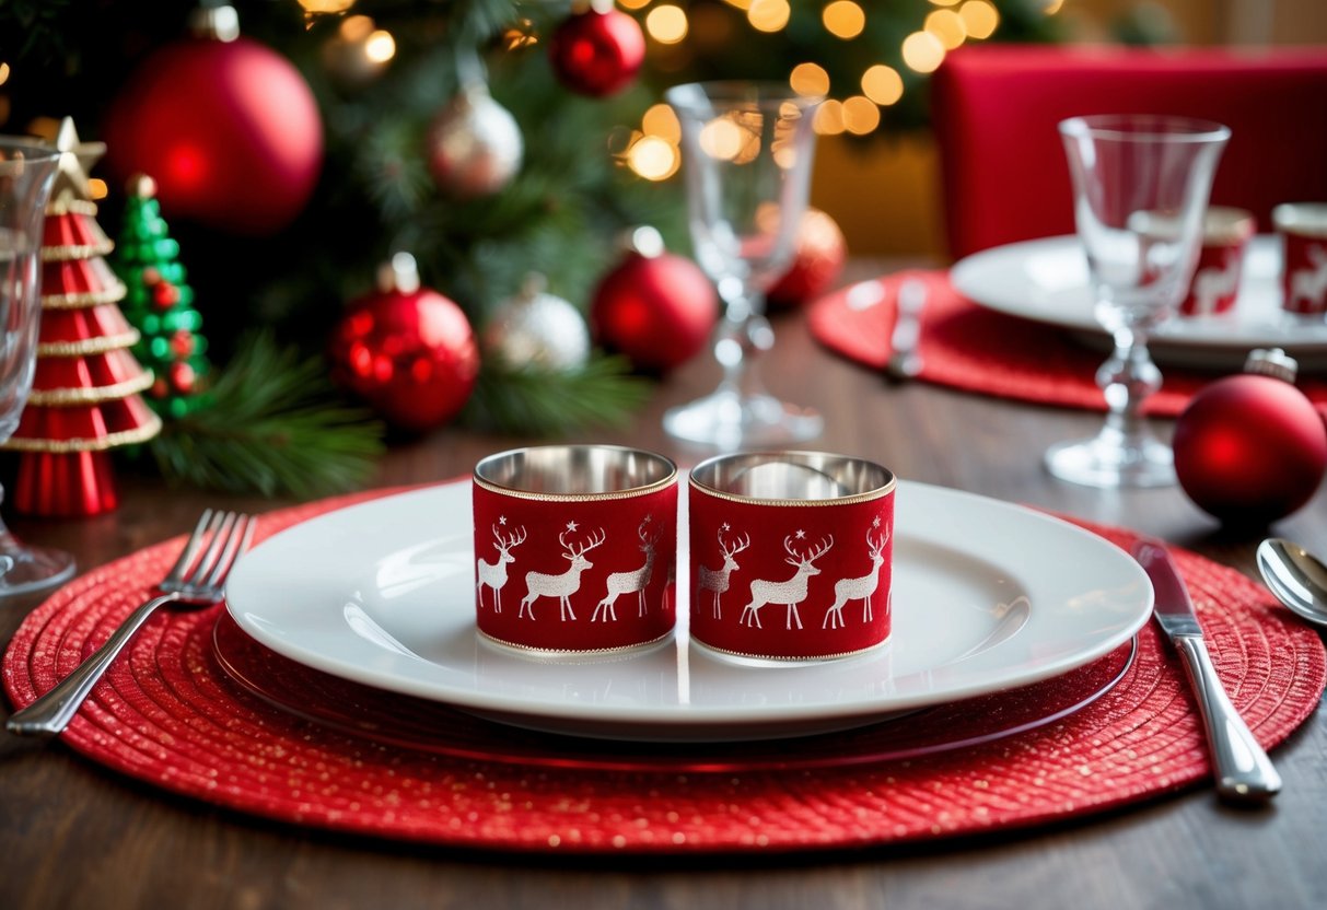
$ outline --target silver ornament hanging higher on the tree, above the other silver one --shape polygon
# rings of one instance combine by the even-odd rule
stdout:
[[[454,196],[499,192],[520,170],[524,154],[516,119],[483,82],[456,93],[429,127],[429,170]]]

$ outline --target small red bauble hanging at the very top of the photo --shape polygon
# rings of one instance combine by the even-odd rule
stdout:
[[[568,89],[602,98],[636,78],[645,62],[645,34],[634,19],[610,3],[594,4],[557,27],[548,41],[548,60]]]

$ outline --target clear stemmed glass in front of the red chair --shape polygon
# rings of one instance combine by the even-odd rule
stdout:
[[[1092,439],[1046,452],[1056,478],[1092,487],[1176,482],[1170,447],[1143,419],[1161,387],[1148,336],[1180,305],[1202,240],[1212,175],[1230,130],[1181,117],[1105,114],[1059,125],[1074,179],[1095,316],[1115,340],[1096,373],[1109,409]]]

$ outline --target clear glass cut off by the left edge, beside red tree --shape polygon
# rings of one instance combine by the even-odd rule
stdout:
[[[0,137],[0,443],[19,426],[32,390],[41,316],[42,216],[58,162],[60,153],[52,149]],[[73,570],[68,553],[25,547],[0,521],[0,598],[41,590]]]

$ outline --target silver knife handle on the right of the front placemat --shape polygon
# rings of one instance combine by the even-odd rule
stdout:
[[[1217,792],[1243,803],[1275,796],[1281,791],[1281,775],[1226,696],[1206,645],[1201,638],[1189,635],[1176,638],[1174,645],[1198,696],[1198,714],[1208,731],[1217,773]]]

